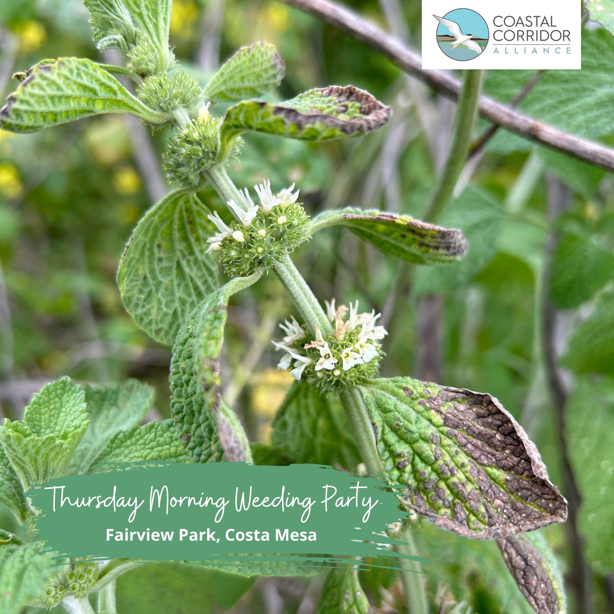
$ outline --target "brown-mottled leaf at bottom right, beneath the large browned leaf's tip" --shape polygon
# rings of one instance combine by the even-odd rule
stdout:
[[[542,535],[510,535],[498,539],[497,546],[520,592],[535,612],[567,612],[561,573]]]

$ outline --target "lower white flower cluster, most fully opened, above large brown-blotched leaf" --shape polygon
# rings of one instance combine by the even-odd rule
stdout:
[[[377,375],[384,356],[379,341],[387,330],[377,324],[381,314],[375,311],[358,313],[358,301],[335,308],[335,299],[326,302],[328,319],[334,330],[323,335],[314,324],[314,340],[309,341],[304,327],[294,317],[280,324],[286,336],[274,346],[286,352],[278,368],[290,369],[295,379],[305,378],[323,390],[357,384]]]

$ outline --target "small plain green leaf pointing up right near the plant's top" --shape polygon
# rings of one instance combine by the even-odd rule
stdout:
[[[257,42],[241,47],[223,64],[203,93],[213,103],[262,96],[278,87],[285,72],[286,64],[274,45]]]

